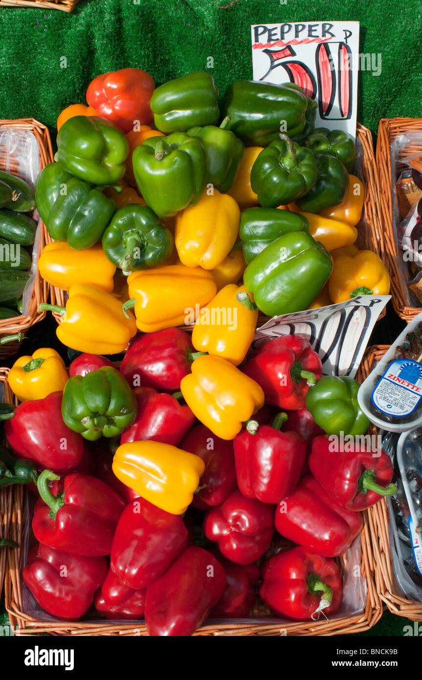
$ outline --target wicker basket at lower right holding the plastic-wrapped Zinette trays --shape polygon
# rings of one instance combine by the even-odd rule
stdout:
[[[359,382],[368,377],[375,364],[388,349],[389,345],[369,347],[357,372]],[[374,573],[376,592],[391,613],[412,619],[412,621],[422,621],[422,602],[413,602],[400,595],[394,584],[390,559],[389,509],[385,498],[370,509],[368,526],[376,565]]]

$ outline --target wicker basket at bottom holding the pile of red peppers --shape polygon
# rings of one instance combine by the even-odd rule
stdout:
[[[9,369],[0,369],[0,381],[7,381]],[[13,395],[7,386],[7,398],[13,401]],[[15,486],[0,492],[1,507],[5,507],[5,524],[7,536],[22,545],[24,541],[24,488]],[[375,588],[375,564],[372,555],[370,526],[368,513],[364,515],[364,528],[361,533],[360,565],[362,575],[366,579],[366,605],[361,613],[333,618],[330,621],[320,620],[309,623],[287,623],[274,619],[268,609],[257,598],[252,610],[250,621],[237,622],[226,619],[224,622],[211,622],[198,629],[195,635],[232,635],[232,636],[331,636],[337,634],[351,634],[368,630],[379,620],[382,614],[381,600]],[[274,554],[280,547],[286,547],[285,539],[275,539],[268,550],[268,555]],[[289,544],[291,545],[291,544]],[[267,555],[267,556],[268,556]],[[22,571],[24,551],[22,549],[7,549],[7,574],[5,577],[5,605],[10,617],[11,626],[19,628],[22,634],[50,633],[52,635],[106,635],[106,636],[145,636],[147,630],[144,622],[112,623],[99,622],[45,622],[35,619],[23,611],[20,573]],[[345,567],[347,556],[338,558],[340,571]],[[259,620],[257,620],[259,619]],[[265,619],[268,619],[268,623]]]

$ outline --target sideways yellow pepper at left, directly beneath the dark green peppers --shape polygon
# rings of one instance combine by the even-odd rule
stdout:
[[[44,246],[38,260],[44,281],[56,288],[69,290],[75,284],[94,284],[109,293],[113,290],[116,267],[107,258],[101,243],[86,250],[73,250],[66,241]]]

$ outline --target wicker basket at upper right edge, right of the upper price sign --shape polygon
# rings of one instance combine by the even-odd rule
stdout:
[[[402,279],[398,267],[398,252],[393,231],[393,193],[391,177],[390,145],[402,133],[421,131],[422,118],[382,118],[379,123],[378,141],[376,143],[376,163],[379,170],[380,210],[383,222],[381,242],[383,243],[383,260],[391,277],[391,296],[393,307],[406,323],[421,313],[422,307],[409,307],[406,297],[406,283]],[[409,144],[402,152],[403,156],[422,152],[422,147]]]

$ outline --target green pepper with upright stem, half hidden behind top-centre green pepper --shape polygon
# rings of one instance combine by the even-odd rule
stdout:
[[[207,154],[207,184],[212,184],[225,194],[234,182],[241,163],[245,146],[230,130],[226,130],[229,118],[224,118],[219,127],[206,125],[188,130],[190,137],[202,141]]]

